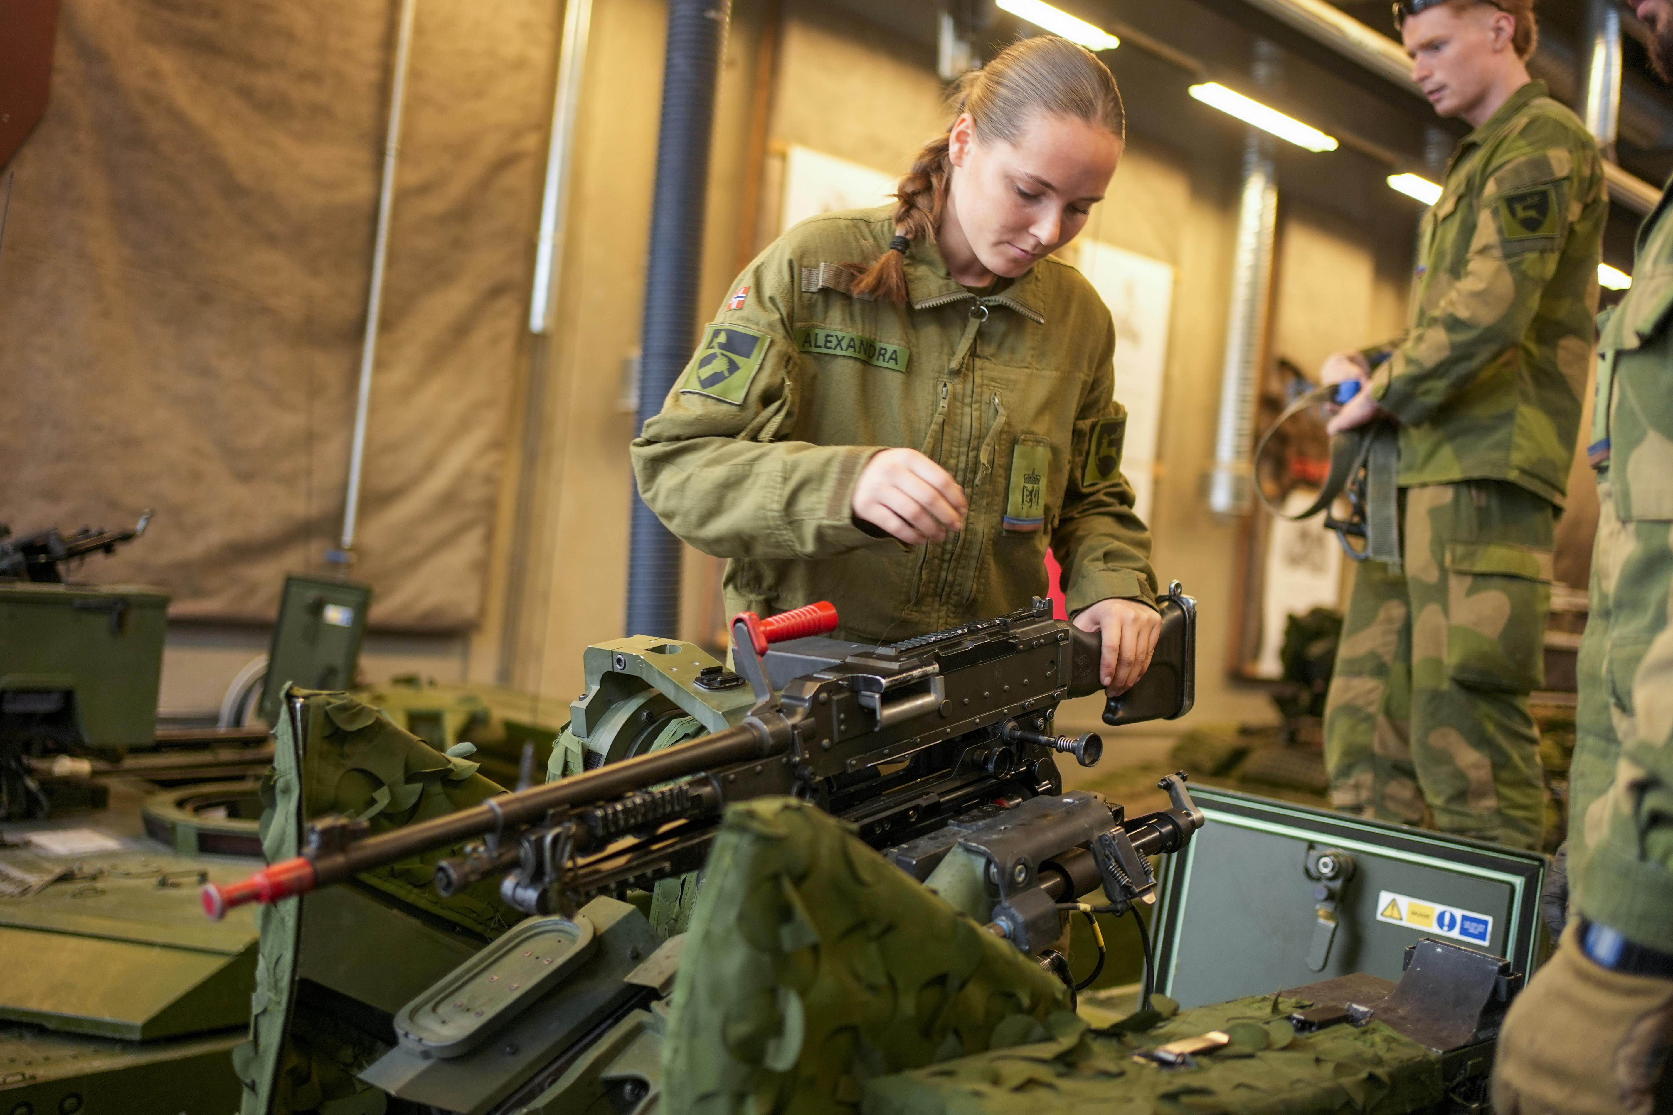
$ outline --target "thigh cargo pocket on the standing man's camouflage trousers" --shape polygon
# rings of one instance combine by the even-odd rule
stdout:
[[[1544,685],[1551,550],[1450,543],[1445,562],[1447,677],[1517,694]]]

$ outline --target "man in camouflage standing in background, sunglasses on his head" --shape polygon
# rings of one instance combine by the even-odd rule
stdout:
[[[1404,548],[1353,578],[1325,757],[1338,809],[1537,848],[1527,694],[1591,363],[1603,165],[1574,114],[1527,80],[1527,0],[1404,8],[1414,79],[1476,130],[1424,214],[1410,326],[1323,369],[1369,384],[1330,433],[1399,425]]]

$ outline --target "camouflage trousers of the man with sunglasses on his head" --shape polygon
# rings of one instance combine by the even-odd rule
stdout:
[[[1506,481],[1400,491],[1404,565],[1355,570],[1325,705],[1337,809],[1537,848],[1556,513]]]

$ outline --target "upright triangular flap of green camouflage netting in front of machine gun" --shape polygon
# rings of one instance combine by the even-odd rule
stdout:
[[[785,797],[743,802],[714,841],[674,983],[663,1103],[857,1112],[875,1077],[1072,1026],[1067,1003],[850,826]]]

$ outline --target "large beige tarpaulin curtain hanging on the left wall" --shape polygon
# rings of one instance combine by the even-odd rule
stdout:
[[[7,172],[0,522],[146,538],[89,580],[269,620],[343,513],[397,3],[65,0]],[[353,575],[482,610],[560,8],[420,0]],[[0,172],[0,187],[5,174]]]

